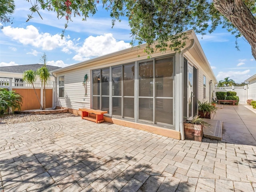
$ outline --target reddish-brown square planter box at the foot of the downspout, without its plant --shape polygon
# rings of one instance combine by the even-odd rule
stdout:
[[[191,123],[183,123],[185,139],[202,142],[203,126]]]

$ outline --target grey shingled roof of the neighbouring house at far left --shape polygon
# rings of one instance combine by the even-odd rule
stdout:
[[[11,73],[23,73],[26,70],[36,71],[38,68],[44,66],[44,64],[30,64],[30,65],[15,65],[15,66],[4,66],[0,67],[0,72],[11,72]],[[60,69],[61,67],[46,65],[49,71]]]

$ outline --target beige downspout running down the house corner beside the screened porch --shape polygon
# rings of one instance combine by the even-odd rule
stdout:
[[[183,73],[183,55],[186,51],[192,49],[194,47],[194,39],[191,39],[191,43],[188,47],[186,47],[185,49],[183,49],[181,52],[180,52],[180,74]],[[182,110],[180,110],[180,137],[181,137],[181,140],[184,140],[185,139],[185,136],[184,136],[184,127],[183,127],[183,85],[184,85],[184,82],[183,82],[183,75],[180,75],[180,82],[182,82],[182,87],[180,88],[180,104],[182,103]]]

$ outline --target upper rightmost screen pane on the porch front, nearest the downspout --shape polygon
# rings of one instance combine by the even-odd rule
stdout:
[[[155,65],[156,97],[172,97],[173,58],[156,60]]]

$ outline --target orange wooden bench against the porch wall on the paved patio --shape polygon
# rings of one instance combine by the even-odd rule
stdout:
[[[103,114],[108,113],[107,111],[88,109],[88,108],[82,108],[79,110],[81,111],[82,119],[86,119],[96,123],[104,122]]]

